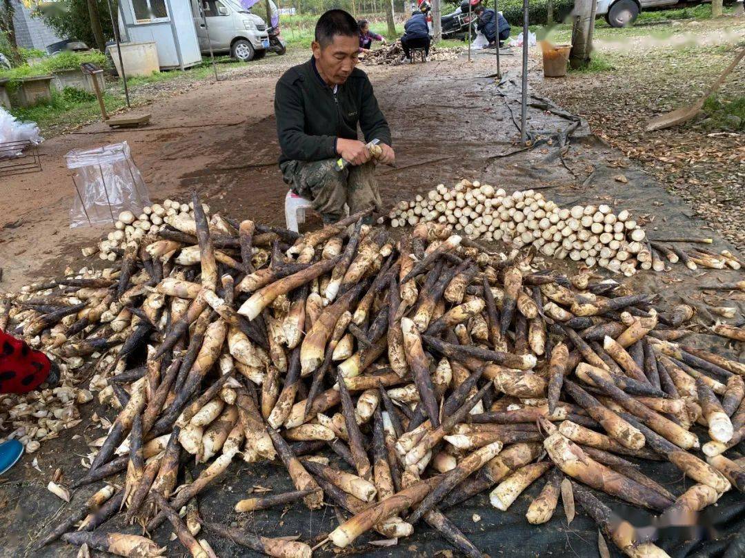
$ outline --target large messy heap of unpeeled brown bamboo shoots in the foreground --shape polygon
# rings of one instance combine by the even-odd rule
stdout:
[[[671,525],[745,489],[743,462],[726,455],[745,436],[745,365],[688,347],[690,307],[536,269],[446,223],[394,240],[363,224],[369,210],[298,235],[209,217],[196,194],[193,207],[114,267],[29,286],[0,309],[2,327],[80,359],[77,377],[115,409],[72,487],[109,484],[39,545],[159,556],[142,533],[168,522],[194,557],[214,555],[205,534],[310,556],[281,533],[200,519],[198,496],[240,459],[279,461],[295,490],[236,497],[238,512],[333,504],[337,547],[423,520],[471,557],[443,510],[485,491],[507,510],[542,476],[528,522],[573,495],[632,557],[665,553],[597,492]],[[197,478],[185,459],[202,464]],[[670,461],[695,484],[670,493],[630,459]],[[118,513],[138,535],[104,525]]]

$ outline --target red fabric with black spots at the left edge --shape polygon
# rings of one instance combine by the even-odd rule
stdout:
[[[51,362],[40,350],[0,331],[0,393],[25,394],[42,385]]]

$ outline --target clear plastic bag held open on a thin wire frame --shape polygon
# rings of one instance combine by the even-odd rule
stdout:
[[[148,187],[126,141],[72,150],[65,160],[77,190],[70,209],[70,228],[113,224],[122,211],[137,215],[150,205]]]

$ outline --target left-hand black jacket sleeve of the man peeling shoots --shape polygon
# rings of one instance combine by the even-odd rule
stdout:
[[[336,137],[305,133],[305,108],[302,96],[292,83],[279,80],[274,90],[274,115],[277,120],[279,147],[285,157],[297,161],[333,158]]]

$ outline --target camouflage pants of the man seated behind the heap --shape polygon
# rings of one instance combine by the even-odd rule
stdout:
[[[344,215],[344,205],[353,214],[370,205],[380,210],[382,202],[369,161],[357,167],[336,170],[336,159],[285,161],[279,165],[282,179],[298,196],[310,199],[323,222],[336,222]]]

